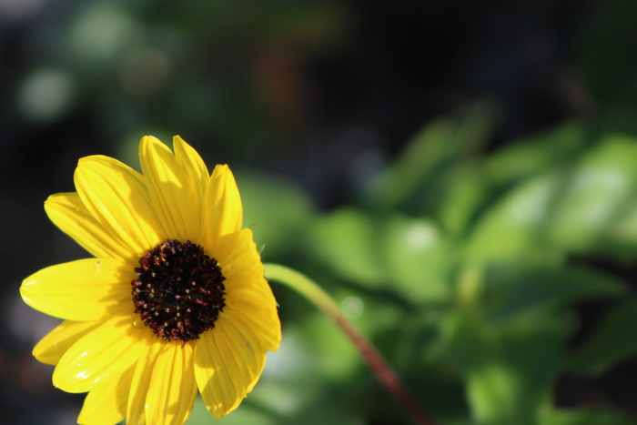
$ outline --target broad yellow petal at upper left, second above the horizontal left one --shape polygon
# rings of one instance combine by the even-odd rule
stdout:
[[[76,189],[88,211],[141,257],[166,239],[153,211],[144,177],[114,158],[79,160]]]

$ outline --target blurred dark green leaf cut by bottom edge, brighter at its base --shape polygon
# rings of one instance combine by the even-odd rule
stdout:
[[[565,323],[550,309],[527,310],[498,323],[464,309],[445,320],[440,359],[465,373],[476,423],[537,423],[561,367],[570,328]]]

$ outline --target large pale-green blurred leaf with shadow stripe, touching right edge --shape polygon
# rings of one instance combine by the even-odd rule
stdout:
[[[512,187],[476,223],[469,260],[531,250],[630,256],[637,248],[637,139],[602,139],[581,160]]]

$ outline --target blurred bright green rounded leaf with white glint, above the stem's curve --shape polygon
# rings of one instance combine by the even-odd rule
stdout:
[[[401,292],[417,302],[449,297],[454,254],[432,221],[403,215],[372,218],[340,209],[312,225],[311,246],[342,278]]]

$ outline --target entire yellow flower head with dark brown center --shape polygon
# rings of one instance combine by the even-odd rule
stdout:
[[[80,159],[77,192],[48,217],[95,258],[44,268],[25,302],[65,319],[34,349],[53,383],[86,392],[78,422],[183,424],[201,393],[219,418],[258,381],[281,339],[277,303],[241,229],[238,187],[174,137],[139,145],[143,174],[111,157]]]

